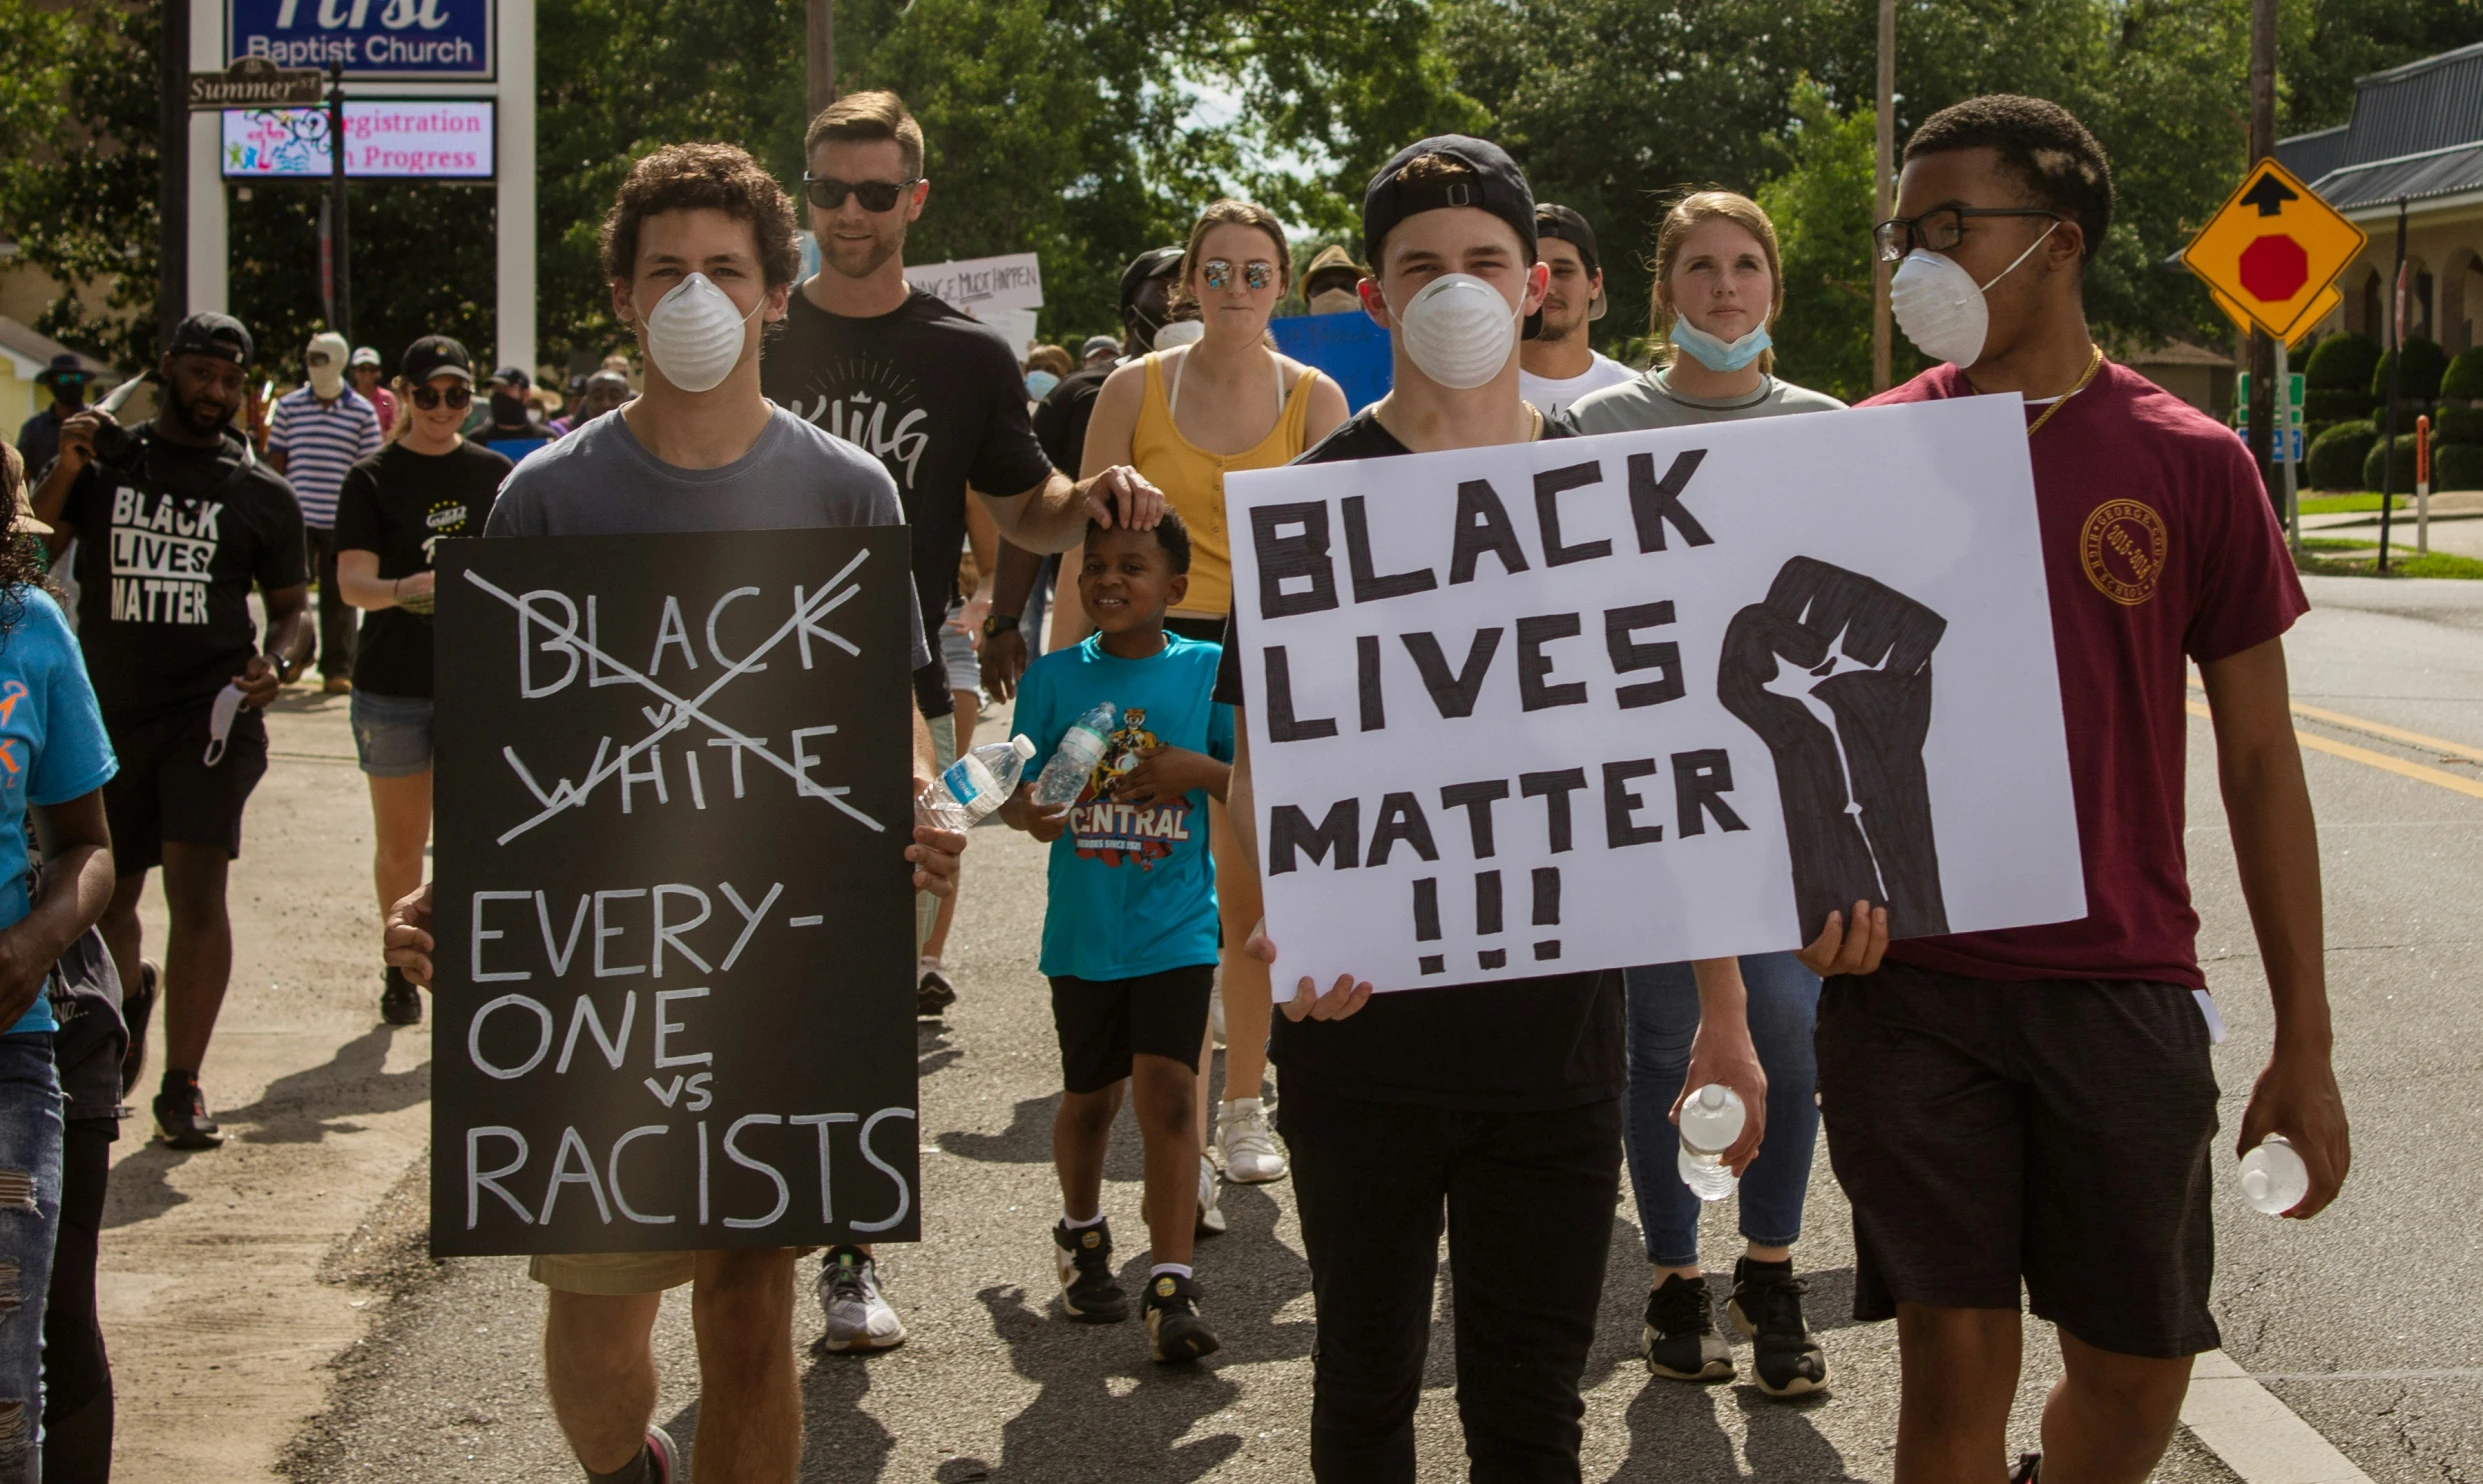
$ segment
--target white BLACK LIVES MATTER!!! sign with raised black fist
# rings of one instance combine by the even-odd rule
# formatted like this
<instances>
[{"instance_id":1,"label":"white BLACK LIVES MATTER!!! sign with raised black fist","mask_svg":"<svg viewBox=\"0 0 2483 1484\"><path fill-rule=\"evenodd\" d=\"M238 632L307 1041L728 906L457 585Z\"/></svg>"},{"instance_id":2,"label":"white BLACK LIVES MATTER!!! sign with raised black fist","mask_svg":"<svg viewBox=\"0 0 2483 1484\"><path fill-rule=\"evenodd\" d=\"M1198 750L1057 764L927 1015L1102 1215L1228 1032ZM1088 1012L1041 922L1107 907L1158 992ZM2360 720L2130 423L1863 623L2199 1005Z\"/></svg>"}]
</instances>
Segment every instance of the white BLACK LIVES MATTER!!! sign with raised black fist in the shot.
<instances>
[{"instance_id":1,"label":"white BLACK LIVES MATTER!!! sign with raised black fist","mask_svg":"<svg viewBox=\"0 0 2483 1484\"><path fill-rule=\"evenodd\" d=\"M1765 953L1855 898L1895 936L2086 913L2016 397L1224 499L1284 983Z\"/></svg>"}]
</instances>

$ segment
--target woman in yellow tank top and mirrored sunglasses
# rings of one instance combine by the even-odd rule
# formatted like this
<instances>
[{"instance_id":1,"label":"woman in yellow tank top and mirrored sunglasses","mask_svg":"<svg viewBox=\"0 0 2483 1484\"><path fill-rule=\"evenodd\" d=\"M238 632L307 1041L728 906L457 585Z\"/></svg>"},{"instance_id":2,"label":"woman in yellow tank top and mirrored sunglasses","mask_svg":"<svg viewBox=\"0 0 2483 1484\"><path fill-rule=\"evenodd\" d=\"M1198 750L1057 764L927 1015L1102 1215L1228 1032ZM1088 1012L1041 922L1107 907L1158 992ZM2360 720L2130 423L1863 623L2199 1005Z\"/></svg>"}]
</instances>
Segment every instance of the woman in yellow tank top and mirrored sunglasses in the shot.
<instances>
[{"instance_id":1,"label":"woman in yellow tank top and mirrored sunglasses","mask_svg":"<svg viewBox=\"0 0 2483 1484\"><path fill-rule=\"evenodd\" d=\"M1269 347L1266 320L1291 280L1284 226L1264 206L1217 201L1189 228L1174 308L1197 305L1202 335L1120 367L1095 395L1085 472L1130 464L1165 491L1189 526L1189 596L1165 628L1224 643L1232 608L1232 543L1224 531L1224 476L1274 469L1328 437L1346 419L1346 392L1331 377ZM1060 558L1063 591L1083 551ZM1075 603L1053 618L1053 648L1093 628ZM1217 861L1217 913L1224 921L1224 1107L1207 1122L1207 1057L1199 1057L1199 1132L1214 1129L1227 1174L1242 1181L1284 1176L1284 1154L1266 1127L1259 1084L1266 1077L1269 975L1242 953L1259 923L1259 874L1237 856L1224 804L1209 799L1209 849ZM1222 1231L1212 1164L1202 1156L1202 1226Z\"/></svg>"}]
</instances>

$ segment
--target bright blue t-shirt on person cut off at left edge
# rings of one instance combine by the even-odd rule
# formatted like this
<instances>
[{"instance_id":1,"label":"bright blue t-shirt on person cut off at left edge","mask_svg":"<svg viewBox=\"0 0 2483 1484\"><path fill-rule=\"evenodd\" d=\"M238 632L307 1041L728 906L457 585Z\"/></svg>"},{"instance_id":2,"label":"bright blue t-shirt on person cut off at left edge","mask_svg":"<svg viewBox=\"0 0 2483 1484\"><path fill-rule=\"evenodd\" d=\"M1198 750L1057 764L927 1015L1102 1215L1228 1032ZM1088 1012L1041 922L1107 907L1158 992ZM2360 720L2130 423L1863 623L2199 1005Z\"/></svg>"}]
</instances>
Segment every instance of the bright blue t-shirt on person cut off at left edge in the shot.
<instances>
[{"instance_id":1,"label":"bright blue t-shirt on person cut off at left edge","mask_svg":"<svg viewBox=\"0 0 2483 1484\"><path fill-rule=\"evenodd\" d=\"M12 598L20 618L0 633L0 928L35 911L25 891L27 807L67 804L119 772L60 603L37 588L17 588ZM50 995L35 995L7 1035L37 1030L60 1030Z\"/></svg>"}]
</instances>

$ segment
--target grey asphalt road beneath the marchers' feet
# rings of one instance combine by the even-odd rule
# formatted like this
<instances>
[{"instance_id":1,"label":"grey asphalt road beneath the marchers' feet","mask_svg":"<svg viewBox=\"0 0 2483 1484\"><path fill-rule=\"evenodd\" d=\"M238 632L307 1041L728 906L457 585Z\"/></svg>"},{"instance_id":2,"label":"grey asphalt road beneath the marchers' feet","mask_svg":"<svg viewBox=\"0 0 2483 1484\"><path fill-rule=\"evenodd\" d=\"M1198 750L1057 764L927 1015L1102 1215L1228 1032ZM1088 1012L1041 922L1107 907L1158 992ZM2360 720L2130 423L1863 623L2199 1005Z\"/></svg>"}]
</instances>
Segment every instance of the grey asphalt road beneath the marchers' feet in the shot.
<instances>
[{"instance_id":1,"label":"grey asphalt road beneath the marchers' feet","mask_svg":"<svg viewBox=\"0 0 2483 1484\"><path fill-rule=\"evenodd\" d=\"M2319 606L2294 633L2297 695L2441 740L2443 749L2304 720L2304 732L2443 774L2483 779L2483 583L2314 581ZM286 717L278 717L281 727ZM283 747L283 742L278 742ZM2463 1285L2483 1276L2483 1072L2468 1052L2476 1012L2466 960L2483 918L2483 799L2307 752L2322 814L2329 973L2339 1070L2356 1114L2344 1201L2317 1223L2217 1206L2217 1315L2227 1350L2371 1479L2483 1479L2483 1318ZM335 809L360 797L335 792ZM305 804L308 807L308 804ZM2232 1040L2217 1050L2225 1119L2240 1117L2267 1055L2269 1017L2232 878L2205 722L2192 725L2190 864L2207 960ZM1040 851L981 831L951 960L963 1000L921 1032L924 1209L929 1238L884 1248L911 1328L896 1352L804 1352L804 1479L1025 1479L1043 1484L1306 1477L1311 1300L1289 1186L1229 1189L1232 1233L1202 1246L1199 1276L1227 1348L1189 1370L1145 1360L1132 1325L1055 1318L1048 1226L1058 1194L1048 1127L1058 1062L1033 945ZM335 881L360 901L360 881ZM367 911L367 908L360 908ZM427 1032L422 1032L427 1035ZM390 1055L420 1060L420 1037ZM318 1119L323 1097L305 1084ZM350 1092L338 1092L350 1102ZM350 1112L340 1109L340 1112ZM238 1149L263 1134L241 1129ZM363 1159L370 1159L365 1154ZM325 1377L325 1407L283 1449L295 1479L576 1479L541 1400L541 1295L514 1258L422 1256L422 1166L335 1246L323 1273L370 1315ZM1137 1149L1122 1124L1107 1214L1137 1268ZM367 1186L367 1171L363 1184ZM1708 1214L1708 1263L1726 1268L1728 1209ZM271 1228L286 1216L271 1214ZM1507 1281L1527 1281L1527 1231L1507 1233ZM1818 1161L1810 1233L1813 1323L1835 1365L1827 1397L1780 1405L1755 1387L1651 1382L1636 1362L1646 1268L1624 1196L1614 1223L1604 1328L1587 1385L1587 1477L1887 1479L1897 1357L1890 1325L1852 1325L1845 1204ZM1142 1271L1142 1268L1140 1268ZM797 1335L819 1330L804 1298ZM688 1305L668 1303L658 1417L688 1442L698 1387ZM1743 1350L1743 1357L1748 1352ZM2048 1343L2029 1335L2014 1442L2034 1447ZM151 1427L151 1400L124 1387L124 1427ZM1420 1415L1423 1474L1462 1477L1445 1313ZM695 1469L695 1462L693 1462ZM2235 1479L2188 1434L2163 1482Z\"/></svg>"}]
</instances>

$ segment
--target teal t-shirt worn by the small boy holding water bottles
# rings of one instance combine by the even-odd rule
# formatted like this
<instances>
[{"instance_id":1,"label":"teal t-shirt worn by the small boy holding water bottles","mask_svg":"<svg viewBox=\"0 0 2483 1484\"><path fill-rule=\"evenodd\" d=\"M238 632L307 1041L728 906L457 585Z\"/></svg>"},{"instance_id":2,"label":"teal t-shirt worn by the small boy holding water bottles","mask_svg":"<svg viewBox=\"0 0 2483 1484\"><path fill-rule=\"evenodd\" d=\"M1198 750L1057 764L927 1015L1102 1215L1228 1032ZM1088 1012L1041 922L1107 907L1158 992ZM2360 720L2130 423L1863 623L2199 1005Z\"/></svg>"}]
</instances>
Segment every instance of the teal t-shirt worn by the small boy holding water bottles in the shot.
<instances>
[{"instance_id":1,"label":"teal t-shirt worn by the small boy holding water bottles","mask_svg":"<svg viewBox=\"0 0 2483 1484\"><path fill-rule=\"evenodd\" d=\"M1102 653L1100 635L1055 650L1018 682L1016 730L1035 744L1025 777L1095 702L1110 700L1112 735L1053 841L1043 973L1125 980L1217 960L1217 869L1207 854L1207 794L1122 804L1112 779L1147 747L1234 754L1234 712L1212 700L1222 650L1165 635L1145 660Z\"/></svg>"}]
</instances>

